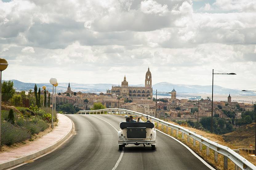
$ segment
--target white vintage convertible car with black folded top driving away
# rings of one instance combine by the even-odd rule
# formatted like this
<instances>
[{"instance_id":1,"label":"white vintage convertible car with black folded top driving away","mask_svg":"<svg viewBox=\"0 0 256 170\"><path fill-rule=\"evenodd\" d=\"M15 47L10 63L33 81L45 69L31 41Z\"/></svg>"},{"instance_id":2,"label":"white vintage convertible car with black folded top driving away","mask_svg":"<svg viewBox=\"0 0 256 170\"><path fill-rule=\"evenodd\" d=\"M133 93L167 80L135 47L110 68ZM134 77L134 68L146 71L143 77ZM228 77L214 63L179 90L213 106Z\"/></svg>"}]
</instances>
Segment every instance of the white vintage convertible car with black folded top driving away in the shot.
<instances>
[{"instance_id":1,"label":"white vintage convertible car with black folded top driving away","mask_svg":"<svg viewBox=\"0 0 256 170\"><path fill-rule=\"evenodd\" d=\"M152 122L121 122L118 131L118 145L121 151L125 145L151 145L155 150L156 130Z\"/></svg>"}]
</instances>

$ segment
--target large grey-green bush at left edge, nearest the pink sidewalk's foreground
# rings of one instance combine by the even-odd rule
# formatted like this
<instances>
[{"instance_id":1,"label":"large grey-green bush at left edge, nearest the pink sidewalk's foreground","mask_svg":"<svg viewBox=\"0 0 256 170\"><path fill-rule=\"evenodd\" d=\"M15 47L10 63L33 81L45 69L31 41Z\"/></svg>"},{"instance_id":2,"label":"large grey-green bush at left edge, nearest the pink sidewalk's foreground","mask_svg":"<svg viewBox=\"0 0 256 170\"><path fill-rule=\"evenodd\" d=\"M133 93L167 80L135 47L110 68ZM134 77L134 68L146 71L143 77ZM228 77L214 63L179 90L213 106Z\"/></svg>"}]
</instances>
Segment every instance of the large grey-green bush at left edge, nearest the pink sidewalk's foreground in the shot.
<instances>
[{"instance_id":1,"label":"large grey-green bush at left edge, nearest the pink sidewalk's foreground","mask_svg":"<svg viewBox=\"0 0 256 170\"><path fill-rule=\"evenodd\" d=\"M25 128L14 126L7 121L2 122L1 128L2 145L12 145L16 142L25 141L31 137L30 131Z\"/></svg>"}]
</instances>

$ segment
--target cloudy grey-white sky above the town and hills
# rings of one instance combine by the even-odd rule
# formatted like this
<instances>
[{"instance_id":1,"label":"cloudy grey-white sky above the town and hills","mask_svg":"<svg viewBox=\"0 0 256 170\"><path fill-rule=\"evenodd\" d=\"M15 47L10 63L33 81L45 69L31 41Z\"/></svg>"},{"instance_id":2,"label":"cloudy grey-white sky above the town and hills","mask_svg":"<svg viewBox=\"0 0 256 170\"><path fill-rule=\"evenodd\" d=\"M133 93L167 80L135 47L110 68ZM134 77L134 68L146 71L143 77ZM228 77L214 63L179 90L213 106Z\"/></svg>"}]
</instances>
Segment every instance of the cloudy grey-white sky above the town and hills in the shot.
<instances>
[{"instance_id":1,"label":"cloudy grey-white sky above the town and hills","mask_svg":"<svg viewBox=\"0 0 256 170\"><path fill-rule=\"evenodd\" d=\"M256 88L256 1L0 0L2 79ZM217 71L218 70L218 71Z\"/></svg>"}]
</instances>

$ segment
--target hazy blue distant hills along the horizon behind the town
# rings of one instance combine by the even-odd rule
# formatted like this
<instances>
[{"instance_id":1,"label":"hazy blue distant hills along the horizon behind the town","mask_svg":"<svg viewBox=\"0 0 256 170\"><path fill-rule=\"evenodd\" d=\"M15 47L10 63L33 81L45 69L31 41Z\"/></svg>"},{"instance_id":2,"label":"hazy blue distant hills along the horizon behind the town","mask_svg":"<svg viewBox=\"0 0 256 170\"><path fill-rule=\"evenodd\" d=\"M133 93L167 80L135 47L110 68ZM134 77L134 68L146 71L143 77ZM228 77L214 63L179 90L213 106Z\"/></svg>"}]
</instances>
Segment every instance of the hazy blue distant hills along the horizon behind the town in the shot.
<instances>
[{"instance_id":1,"label":"hazy blue distant hills along the horizon behind the town","mask_svg":"<svg viewBox=\"0 0 256 170\"><path fill-rule=\"evenodd\" d=\"M34 89L35 83L24 83L18 80L11 80L14 82L14 87L16 91L22 90L29 90ZM82 84L82 83L70 83L72 91L81 91L81 92L90 92L90 93L100 93L106 92L106 89L111 89L112 85L118 86L118 84ZM42 86L46 86L48 91L52 91L52 85L50 83L37 83L38 88ZM144 84L137 84L137 85L130 85L130 86L139 86L143 87ZM59 83L57 90L59 92L64 92L67 90L68 83ZM169 92L175 88L177 93L195 93L195 94L205 94L211 93L212 86L201 86L201 85L188 85L188 84L173 84L168 82L157 83L153 85L153 93L157 89L158 92ZM214 94L229 94L232 93L233 95L256 95L253 92L242 93L239 90L228 89L224 87L220 87L214 85Z\"/></svg>"}]
</instances>

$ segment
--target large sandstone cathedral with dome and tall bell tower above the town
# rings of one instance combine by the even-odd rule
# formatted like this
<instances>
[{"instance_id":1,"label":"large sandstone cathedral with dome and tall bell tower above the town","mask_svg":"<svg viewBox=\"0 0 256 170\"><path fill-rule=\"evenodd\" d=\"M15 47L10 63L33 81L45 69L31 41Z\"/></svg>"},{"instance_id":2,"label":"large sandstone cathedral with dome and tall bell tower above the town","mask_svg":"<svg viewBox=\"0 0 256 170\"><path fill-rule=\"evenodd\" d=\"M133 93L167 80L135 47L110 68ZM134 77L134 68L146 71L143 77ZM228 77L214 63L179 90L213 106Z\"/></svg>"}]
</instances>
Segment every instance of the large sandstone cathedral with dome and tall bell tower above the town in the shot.
<instances>
[{"instance_id":1,"label":"large sandstone cathedral with dome and tall bell tower above the town","mask_svg":"<svg viewBox=\"0 0 256 170\"><path fill-rule=\"evenodd\" d=\"M128 82L126 81L126 76L124 76L124 80L122 81L121 86L112 86L111 90L107 90L107 93L116 94L122 97L132 97L132 98L150 98L152 99L153 89L152 89L152 77L151 72L146 72L145 78L145 87L135 87L128 86Z\"/></svg>"}]
</instances>

